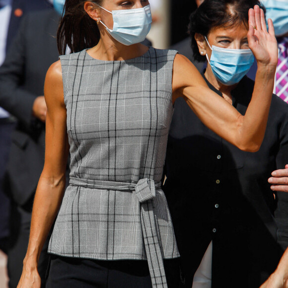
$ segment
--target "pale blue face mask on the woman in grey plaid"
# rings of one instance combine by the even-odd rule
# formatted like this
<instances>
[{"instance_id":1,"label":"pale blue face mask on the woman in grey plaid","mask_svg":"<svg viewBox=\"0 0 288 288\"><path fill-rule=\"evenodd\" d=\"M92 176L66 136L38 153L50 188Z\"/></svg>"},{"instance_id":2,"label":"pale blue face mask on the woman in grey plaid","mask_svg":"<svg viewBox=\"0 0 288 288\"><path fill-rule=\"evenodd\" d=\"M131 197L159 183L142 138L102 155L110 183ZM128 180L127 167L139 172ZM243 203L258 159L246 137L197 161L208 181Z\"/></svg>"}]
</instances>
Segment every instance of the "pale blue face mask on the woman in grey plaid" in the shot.
<instances>
[{"instance_id":1,"label":"pale blue face mask on the woman in grey plaid","mask_svg":"<svg viewBox=\"0 0 288 288\"><path fill-rule=\"evenodd\" d=\"M101 6L99 6L101 7ZM102 21L108 33L124 45L132 45L144 41L151 28L152 17L150 5L138 9L113 10L113 29L109 29Z\"/></svg>"}]
</instances>

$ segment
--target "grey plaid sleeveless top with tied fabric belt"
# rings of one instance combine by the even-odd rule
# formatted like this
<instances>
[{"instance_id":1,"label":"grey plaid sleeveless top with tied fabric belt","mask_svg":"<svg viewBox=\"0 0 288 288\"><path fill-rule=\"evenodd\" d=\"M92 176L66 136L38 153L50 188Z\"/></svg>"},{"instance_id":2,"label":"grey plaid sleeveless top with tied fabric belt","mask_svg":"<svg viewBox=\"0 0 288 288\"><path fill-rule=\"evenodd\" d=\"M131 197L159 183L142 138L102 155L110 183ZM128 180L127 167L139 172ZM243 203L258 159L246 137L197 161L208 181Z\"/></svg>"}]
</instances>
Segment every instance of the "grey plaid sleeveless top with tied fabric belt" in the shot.
<instances>
[{"instance_id":1,"label":"grey plaid sleeveless top with tied fabric belt","mask_svg":"<svg viewBox=\"0 0 288 288\"><path fill-rule=\"evenodd\" d=\"M162 259L179 257L159 185L176 53L150 47L126 61L86 51L61 56L71 178L50 253L147 259L153 287L166 287Z\"/></svg>"}]
</instances>

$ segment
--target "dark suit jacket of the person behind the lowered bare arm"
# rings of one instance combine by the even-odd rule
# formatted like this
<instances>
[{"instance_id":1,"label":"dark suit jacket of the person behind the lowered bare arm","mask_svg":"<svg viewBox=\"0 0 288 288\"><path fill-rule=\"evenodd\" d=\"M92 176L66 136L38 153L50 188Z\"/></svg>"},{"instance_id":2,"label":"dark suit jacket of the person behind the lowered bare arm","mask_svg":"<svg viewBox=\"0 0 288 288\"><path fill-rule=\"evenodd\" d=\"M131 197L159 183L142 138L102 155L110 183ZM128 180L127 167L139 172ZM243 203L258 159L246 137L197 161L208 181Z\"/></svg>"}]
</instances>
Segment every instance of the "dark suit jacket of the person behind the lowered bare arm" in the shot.
<instances>
[{"instance_id":1,"label":"dark suit jacket of the person behind the lowered bare arm","mask_svg":"<svg viewBox=\"0 0 288 288\"><path fill-rule=\"evenodd\" d=\"M23 18L0 67L0 106L18 120L5 177L5 187L19 205L35 192L44 165L45 124L32 117L37 96L44 95L45 75L58 60L54 10Z\"/></svg>"}]
</instances>

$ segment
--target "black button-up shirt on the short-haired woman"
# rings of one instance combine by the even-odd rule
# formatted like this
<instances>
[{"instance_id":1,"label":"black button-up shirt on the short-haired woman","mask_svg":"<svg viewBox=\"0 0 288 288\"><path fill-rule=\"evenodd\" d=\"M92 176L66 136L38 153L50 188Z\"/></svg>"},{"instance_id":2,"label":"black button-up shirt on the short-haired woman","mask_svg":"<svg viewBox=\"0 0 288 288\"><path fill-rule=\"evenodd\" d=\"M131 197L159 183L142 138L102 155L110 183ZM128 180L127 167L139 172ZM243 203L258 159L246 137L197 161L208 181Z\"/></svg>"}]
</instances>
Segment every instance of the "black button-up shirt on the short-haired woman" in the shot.
<instances>
[{"instance_id":1,"label":"black button-up shirt on the short-haired woman","mask_svg":"<svg viewBox=\"0 0 288 288\"><path fill-rule=\"evenodd\" d=\"M253 86L244 77L232 91L233 106L242 115ZM274 217L277 201L267 179L288 163L288 105L273 96L265 138L255 153L243 152L209 130L184 99L177 99L174 108L163 190L186 287L191 288L213 240L212 287L258 288L282 254ZM282 210L283 217L287 211Z\"/></svg>"}]
</instances>

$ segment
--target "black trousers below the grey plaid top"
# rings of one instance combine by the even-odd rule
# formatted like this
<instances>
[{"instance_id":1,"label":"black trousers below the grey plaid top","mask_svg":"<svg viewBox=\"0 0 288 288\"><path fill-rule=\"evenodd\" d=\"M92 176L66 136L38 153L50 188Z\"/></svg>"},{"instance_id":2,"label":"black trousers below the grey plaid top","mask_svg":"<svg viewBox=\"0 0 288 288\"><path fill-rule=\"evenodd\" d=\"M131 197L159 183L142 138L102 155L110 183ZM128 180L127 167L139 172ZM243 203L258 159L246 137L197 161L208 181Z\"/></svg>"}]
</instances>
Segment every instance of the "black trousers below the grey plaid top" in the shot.
<instances>
[{"instance_id":1,"label":"black trousers below the grey plaid top","mask_svg":"<svg viewBox=\"0 0 288 288\"><path fill-rule=\"evenodd\" d=\"M164 260L169 288L180 288L179 259ZM101 261L51 255L46 288L152 288L147 261Z\"/></svg>"}]
</instances>

